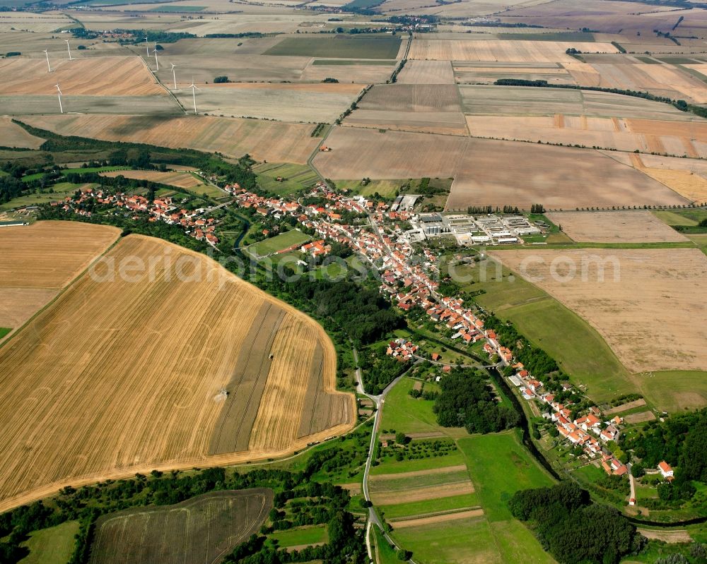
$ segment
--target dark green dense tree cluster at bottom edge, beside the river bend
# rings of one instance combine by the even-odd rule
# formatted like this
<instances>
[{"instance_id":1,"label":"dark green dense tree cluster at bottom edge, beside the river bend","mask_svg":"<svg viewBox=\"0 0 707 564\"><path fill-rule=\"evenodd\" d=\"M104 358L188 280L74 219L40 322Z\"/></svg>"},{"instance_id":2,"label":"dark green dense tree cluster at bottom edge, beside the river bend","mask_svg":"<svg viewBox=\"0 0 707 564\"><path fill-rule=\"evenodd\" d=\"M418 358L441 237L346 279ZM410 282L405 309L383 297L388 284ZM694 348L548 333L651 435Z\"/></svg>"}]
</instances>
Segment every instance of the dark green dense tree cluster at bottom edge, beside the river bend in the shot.
<instances>
[{"instance_id":1,"label":"dark green dense tree cluster at bottom edge, beside the river bend","mask_svg":"<svg viewBox=\"0 0 707 564\"><path fill-rule=\"evenodd\" d=\"M530 523L543 548L562 564L618 563L645 544L616 509L591 503L588 491L571 481L518 491L508 505L514 517Z\"/></svg>"}]
</instances>

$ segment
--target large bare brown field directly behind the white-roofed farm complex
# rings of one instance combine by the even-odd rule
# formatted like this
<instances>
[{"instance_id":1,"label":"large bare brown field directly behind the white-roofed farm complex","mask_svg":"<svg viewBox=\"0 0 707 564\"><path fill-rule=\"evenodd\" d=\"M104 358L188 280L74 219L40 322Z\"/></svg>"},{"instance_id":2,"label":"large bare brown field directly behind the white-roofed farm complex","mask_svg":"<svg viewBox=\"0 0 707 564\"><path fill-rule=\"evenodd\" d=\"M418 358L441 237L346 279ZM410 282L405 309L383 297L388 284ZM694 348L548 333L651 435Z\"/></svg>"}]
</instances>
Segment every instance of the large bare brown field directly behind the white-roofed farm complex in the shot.
<instances>
[{"instance_id":1,"label":"large bare brown field directly behind the white-roofed farm complex","mask_svg":"<svg viewBox=\"0 0 707 564\"><path fill-rule=\"evenodd\" d=\"M549 210L575 210L684 205L688 200L595 150L469 140L447 210L466 210L469 205L518 205L529 210L537 202Z\"/></svg>"}]
</instances>

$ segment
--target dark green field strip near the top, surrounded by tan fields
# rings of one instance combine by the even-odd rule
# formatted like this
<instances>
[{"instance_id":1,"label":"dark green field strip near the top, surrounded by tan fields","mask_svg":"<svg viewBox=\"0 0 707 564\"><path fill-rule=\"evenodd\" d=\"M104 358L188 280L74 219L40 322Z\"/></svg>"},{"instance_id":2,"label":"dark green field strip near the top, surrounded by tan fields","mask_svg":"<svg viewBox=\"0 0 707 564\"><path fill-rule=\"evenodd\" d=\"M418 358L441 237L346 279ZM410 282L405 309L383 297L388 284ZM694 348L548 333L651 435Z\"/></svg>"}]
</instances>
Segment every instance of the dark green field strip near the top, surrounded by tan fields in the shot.
<instances>
[{"instance_id":1,"label":"dark green field strip near the top, surrounded by tan fields","mask_svg":"<svg viewBox=\"0 0 707 564\"><path fill-rule=\"evenodd\" d=\"M321 56L332 59L395 59L400 37L358 37L355 35L287 37L270 47L265 55Z\"/></svg>"}]
</instances>

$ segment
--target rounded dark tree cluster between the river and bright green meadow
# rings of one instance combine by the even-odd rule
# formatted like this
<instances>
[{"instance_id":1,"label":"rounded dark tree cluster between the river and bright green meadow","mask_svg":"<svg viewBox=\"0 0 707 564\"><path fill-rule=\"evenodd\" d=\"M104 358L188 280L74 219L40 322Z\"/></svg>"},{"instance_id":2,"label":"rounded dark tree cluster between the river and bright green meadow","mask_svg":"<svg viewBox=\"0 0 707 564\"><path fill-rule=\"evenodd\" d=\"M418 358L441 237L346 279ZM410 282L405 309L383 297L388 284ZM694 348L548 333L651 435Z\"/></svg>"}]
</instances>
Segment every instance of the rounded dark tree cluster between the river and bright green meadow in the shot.
<instances>
[{"instance_id":1,"label":"rounded dark tree cluster between the river and bright green meadow","mask_svg":"<svg viewBox=\"0 0 707 564\"><path fill-rule=\"evenodd\" d=\"M520 416L499 404L488 377L479 371L454 368L440 380L433 412L443 427L465 427L469 433L493 433L515 427Z\"/></svg>"}]
</instances>

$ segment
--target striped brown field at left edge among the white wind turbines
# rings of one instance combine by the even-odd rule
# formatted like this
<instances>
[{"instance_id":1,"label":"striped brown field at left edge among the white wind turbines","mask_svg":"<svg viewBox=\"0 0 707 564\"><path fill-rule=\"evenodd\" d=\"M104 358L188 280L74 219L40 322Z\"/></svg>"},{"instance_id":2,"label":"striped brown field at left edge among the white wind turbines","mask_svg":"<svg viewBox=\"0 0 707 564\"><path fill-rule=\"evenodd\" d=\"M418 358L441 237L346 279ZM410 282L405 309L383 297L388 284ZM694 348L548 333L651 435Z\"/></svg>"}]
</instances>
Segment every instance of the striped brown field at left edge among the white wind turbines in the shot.
<instances>
[{"instance_id":1,"label":"striped brown field at left edge among the white wind turbines","mask_svg":"<svg viewBox=\"0 0 707 564\"><path fill-rule=\"evenodd\" d=\"M56 95L59 84L67 96L167 95L136 56L59 59L52 61L52 73L45 59L2 59L0 76L0 94Z\"/></svg>"}]
</instances>

